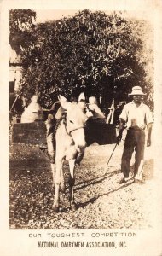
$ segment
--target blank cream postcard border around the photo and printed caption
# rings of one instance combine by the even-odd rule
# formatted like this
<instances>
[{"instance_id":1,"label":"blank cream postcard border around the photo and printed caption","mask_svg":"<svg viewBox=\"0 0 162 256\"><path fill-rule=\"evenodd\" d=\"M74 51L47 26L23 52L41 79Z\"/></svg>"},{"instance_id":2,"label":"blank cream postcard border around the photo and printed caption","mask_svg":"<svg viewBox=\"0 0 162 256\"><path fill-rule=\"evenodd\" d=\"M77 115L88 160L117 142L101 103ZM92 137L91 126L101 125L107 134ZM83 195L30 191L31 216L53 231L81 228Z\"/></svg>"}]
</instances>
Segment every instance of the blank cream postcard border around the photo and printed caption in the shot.
<instances>
[{"instance_id":1,"label":"blank cream postcard border around the photo and printed caption","mask_svg":"<svg viewBox=\"0 0 162 256\"><path fill-rule=\"evenodd\" d=\"M1 2L1 24L0 24L0 49L1 49L1 66L0 66L0 118L1 118L1 133L0 133L0 204L1 204L1 218L0 218L0 254L12 255L12 256L23 256L23 255L145 255L145 256L158 256L162 253L161 247L161 143L162 143L162 119L161 119L161 96L162 96L162 84L161 84L161 68L162 67L162 56L161 56L161 42L162 42L162 31L161 31L161 15L162 6L161 1L147 1L147 0L136 0L136 1L122 1L122 0L60 0L60 1L48 1L48 0L31 0L31 1L2 1ZM154 83L155 83L155 171L157 177L157 183L155 188L154 199L157 203L155 204L155 220L156 228L152 231L148 230L135 230L138 232L138 239L130 242L131 246L128 249L124 249L123 253L120 251L113 252L112 250L103 249L61 249L49 250L49 249L38 249L36 247L35 239L29 239L29 233L41 233L45 236L48 230L9 230L8 228L8 170L9 170L9 146L8 146L8 106L9 106L9 49L8 49L8 38L9 38L9 9L101 9L101 10L127 10L136 12L136 15L143 15L145 19L153 20L154 22ZM150 202L152 207L152 202ZM51 230L49 230L51 232ZM63 232L64 230L58 230ZM65 230L66 231L66 230ZM77 232L78 230L74 230ZM96 230L95 230L96 231ZM117 231L117 230L109 230ZM118 230L121 232L121 230ZM124 231L124 230L122 230ZM129 230L130 231L130 230ZM89 237L91 230L84 230L86 233L86 239Z\"/></svg>"}]
</instances>

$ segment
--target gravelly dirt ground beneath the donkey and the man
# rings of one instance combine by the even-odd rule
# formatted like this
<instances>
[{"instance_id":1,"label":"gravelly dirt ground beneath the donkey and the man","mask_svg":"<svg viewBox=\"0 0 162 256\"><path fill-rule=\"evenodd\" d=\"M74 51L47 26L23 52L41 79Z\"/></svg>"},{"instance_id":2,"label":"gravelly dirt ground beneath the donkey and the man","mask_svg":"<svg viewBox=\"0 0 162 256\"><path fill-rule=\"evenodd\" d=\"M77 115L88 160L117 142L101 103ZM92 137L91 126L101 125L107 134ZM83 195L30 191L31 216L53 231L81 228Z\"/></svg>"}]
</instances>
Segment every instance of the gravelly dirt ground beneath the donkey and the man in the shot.
<instances>
[{"instance_id":1,"label":"gravelly dirt ground beneath the donkey and the man","mask_svg":"<svg viewBox=\"0 0 162 256\"><path fill-rule=\"evenodd\" d=\"M153 226L153 148L146 148L144 184L132 180L119 185L123 144L86 148L76 168L75 199L78 209L69 209L68 185L60 195L59 213L53 212L54 189L49 160L37 146L11 144L9 152L9 227L18 229L80 228L119 229ZM133 159L131 162L133 165ZM64 165L65 178L68 166Z\"/></svg>"}]
</instances>

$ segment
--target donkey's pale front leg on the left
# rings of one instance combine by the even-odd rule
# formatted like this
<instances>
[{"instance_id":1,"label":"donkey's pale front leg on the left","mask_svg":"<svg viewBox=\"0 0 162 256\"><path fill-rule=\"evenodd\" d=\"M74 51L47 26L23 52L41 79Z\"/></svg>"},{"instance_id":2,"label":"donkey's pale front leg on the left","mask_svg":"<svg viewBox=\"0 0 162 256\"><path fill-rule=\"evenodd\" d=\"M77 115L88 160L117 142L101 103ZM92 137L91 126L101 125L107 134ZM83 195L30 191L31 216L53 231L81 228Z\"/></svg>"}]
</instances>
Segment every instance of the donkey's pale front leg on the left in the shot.
<instances>
[{"instance_id":1,"label":"donkey's pale front leg on the left","mask_svg":"<svg viewBox=\"0 0 162 256\"><path fill-rule=\"evenodd\" d=\"M61 184L61 168L62 160L56 160L55 165L55 196L54 196L54 212L59 212L59 190Z\"/></svg>"}]
</instances>

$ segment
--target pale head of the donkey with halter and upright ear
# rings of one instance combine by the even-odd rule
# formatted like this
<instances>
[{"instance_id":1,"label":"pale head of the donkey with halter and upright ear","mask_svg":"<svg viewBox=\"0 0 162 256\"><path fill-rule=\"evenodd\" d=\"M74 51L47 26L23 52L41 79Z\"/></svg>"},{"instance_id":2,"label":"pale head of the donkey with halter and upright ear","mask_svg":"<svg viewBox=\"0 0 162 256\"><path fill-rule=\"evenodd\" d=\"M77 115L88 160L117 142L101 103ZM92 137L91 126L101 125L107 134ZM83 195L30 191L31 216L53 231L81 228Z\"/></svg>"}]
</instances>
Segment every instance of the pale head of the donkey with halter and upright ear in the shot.
<instances>
[{"instance_id":1,"label":"pale head of the donkey with halter and upright ear","mask_svg":"<svg viewBox=\"0 0 162 256\"><path fill-rule=\"evenodd\" d=\"M63 96L59 96L62 108L66 109L66 130L67 134L72 137L78 152L82 151L85 146L84 127L87 116L78 103L67 102Z\"/></svg>"}]
</instances>

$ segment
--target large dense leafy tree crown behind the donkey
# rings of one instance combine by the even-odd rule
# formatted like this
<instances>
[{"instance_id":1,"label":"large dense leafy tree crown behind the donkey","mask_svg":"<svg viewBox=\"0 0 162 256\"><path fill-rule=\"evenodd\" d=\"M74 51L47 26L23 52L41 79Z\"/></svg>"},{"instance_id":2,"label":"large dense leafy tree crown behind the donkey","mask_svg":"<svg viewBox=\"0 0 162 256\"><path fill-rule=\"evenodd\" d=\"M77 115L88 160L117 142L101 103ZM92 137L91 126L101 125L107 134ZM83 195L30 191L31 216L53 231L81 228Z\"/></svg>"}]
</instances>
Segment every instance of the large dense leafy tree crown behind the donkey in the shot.
<instances>
[{"instance_id":1,"label":"large dense leafy tree crown behind the donkey","mask_svg":"<svg viewBox=\"0 0 162 256\"><path fill-rule=\"evenodd\" d=\"M139 32L140 33L140 32ZM102 97L104 102L127 98L132 86L145 89L142 36L135 22L122 15L90 10L32 28L32 45L21 52L22 93L36 93L49 107L55 91L64 96Z\"/></svg>"}]
</instances>

